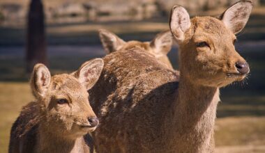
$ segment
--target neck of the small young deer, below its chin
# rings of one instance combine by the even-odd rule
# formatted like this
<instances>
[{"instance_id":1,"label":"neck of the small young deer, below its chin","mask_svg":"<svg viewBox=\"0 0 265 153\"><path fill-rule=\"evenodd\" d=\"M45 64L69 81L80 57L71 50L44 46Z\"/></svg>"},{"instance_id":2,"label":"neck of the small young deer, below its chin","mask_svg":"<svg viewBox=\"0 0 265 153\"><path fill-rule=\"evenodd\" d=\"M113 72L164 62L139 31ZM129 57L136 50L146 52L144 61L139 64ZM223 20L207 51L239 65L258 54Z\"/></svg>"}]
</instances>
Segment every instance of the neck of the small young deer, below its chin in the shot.
<instances>
[{"instance_id":1,"label":"neck of the small young deer, below its chin","mask_svg":"<svg viewBox=\"0 0 265 153\"><path fill-rule=\"evenodd\" d=\"M48 127L40 123L38 128L36 152L85 152L83 137L70 139L58 136Z\"/></svg>"}]
</instances>

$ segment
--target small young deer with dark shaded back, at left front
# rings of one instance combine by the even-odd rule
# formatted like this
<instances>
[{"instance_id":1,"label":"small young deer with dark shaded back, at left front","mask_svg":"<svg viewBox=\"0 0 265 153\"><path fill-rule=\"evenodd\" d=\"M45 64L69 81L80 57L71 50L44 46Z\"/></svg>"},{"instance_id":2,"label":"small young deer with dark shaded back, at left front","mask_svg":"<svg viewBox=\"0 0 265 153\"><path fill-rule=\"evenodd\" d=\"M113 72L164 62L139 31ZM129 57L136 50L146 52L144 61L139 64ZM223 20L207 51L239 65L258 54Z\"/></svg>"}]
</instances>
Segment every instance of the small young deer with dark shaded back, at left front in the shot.
<instances>
[{"instance_id":1,"label":"small young deer with dark shaded back, at left front","mask_svg":"<svg viewBox=\"0 0 265 153\"><path fill-rule=\"evenodd\" d=\"M89 152L87 134L98 126L88 92L103 69L100 58L84 63L73 74L51 77L43 64L31 74L36 101L22 109L10 134L9 152Z\"/></svg>"}]
</instances>

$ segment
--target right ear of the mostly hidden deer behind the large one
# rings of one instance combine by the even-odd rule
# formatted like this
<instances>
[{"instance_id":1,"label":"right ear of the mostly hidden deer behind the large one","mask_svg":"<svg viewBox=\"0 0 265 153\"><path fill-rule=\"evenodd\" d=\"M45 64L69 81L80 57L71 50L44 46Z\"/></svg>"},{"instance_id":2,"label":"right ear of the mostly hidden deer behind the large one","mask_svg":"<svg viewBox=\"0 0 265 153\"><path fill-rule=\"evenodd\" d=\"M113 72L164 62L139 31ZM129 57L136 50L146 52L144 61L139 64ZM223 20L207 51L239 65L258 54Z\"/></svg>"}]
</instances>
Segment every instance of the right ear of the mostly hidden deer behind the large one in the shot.
<instances>
[{"instance_id":1,"label":"right ear of the mostly hidden deer behind the large one","mask_svg":"<svg viewBox=\"0 0 265 153\"><path fill-rule=\"evenodd\" d=\"M172 33L170 31L164 31L156 35L156 38L150 42L150 46L156 51L156 54L167 55L172 48L172 39Z\"/></svg>"}]
</instances>

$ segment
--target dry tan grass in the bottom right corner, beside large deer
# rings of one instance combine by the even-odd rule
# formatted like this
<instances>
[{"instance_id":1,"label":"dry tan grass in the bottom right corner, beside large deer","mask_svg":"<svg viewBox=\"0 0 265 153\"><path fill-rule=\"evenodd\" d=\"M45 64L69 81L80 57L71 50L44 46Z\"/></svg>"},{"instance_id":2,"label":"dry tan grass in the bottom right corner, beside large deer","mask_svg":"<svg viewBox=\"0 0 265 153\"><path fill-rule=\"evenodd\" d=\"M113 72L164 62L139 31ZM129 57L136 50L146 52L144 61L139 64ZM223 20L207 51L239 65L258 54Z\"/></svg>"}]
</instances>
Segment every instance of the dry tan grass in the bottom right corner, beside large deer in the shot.
<instances>
[{"instance_id":1,"label":"dry tan grass in the bottom right corner, beside large deer","mask_svg":"<svg viewBox=\"0 0 265 153\"><path fill-rule=\"evenodd\" d=\"M265 117L218 118L215 152L265 152Z\"/></svg>"}]
</instances>

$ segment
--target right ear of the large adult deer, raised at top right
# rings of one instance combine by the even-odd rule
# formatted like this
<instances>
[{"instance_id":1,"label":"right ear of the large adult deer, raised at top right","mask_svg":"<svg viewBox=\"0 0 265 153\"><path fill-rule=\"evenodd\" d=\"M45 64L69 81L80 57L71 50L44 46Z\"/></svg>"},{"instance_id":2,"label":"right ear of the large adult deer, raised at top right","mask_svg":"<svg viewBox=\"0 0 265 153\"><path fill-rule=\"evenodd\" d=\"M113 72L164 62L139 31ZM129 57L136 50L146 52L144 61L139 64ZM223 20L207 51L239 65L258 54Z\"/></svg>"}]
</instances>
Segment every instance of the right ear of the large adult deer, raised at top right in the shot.
<instances>
[{"instance_id":1,"label":"right ear of the large adult deer, raised at top right","mask_svg":"<svg viewBox=\"0 0 265 153\"><path fill-rule=\"evenodd\" d=\"M252 10L252 1L239 1L225 10L220 19L234 34L239 33L248 22Z\"/></svg>"}]
</instances>

